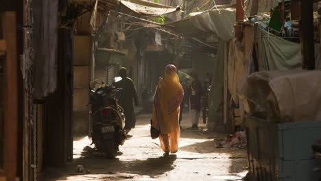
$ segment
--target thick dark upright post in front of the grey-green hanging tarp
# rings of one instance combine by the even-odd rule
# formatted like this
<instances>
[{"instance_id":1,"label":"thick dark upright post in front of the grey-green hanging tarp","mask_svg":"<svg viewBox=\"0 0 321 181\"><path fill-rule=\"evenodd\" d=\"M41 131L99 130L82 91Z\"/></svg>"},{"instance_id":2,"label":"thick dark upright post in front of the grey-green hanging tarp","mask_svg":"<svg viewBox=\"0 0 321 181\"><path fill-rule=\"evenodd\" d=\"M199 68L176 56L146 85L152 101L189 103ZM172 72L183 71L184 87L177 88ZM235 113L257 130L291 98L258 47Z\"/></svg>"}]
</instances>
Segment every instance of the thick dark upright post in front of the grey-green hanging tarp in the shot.
<instances>
[{"instance_id":1,"label":"thick dark upright post in front of the grey-green hanging tarp","mask_svg":"<svg viewBox=\"0 0 321 181\"><path fill-rule=\"evenodd\" d=\"M314 60L313 1L301 0L300 24L302 69L313 70L316 67L316 63Z\"/></svg>"}]
</instances>

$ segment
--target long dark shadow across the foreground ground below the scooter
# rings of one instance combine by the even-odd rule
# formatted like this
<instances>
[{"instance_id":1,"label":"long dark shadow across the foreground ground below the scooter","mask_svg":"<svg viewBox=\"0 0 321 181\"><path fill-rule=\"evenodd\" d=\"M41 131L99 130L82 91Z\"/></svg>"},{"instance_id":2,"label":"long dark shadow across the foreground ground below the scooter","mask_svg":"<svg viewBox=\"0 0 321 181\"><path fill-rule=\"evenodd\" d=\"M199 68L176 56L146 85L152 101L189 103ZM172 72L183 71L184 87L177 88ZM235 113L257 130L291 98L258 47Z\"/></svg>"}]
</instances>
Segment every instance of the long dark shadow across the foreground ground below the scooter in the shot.
<instances>
[{"instance_id":1,"label":"long dark shadow across the foreground ground below the scooter","mask_svg":"<svg viewBox=\"0 0 321 181\"><path fill-rule=\"evenodd\" d=\"M173 163L176 158L176 155L170 155L167 157L147 158L146 160L123 161L119 160L119 158L110 160L104 157L99 158L99 156L85 156L84 158L74 159L74 164L67 165L64 170L50 169L47 171L48 175L46 178L51 179L45 180L53 180L53 178L68 180L66 176L83 175L84 173L77 173L75 171L76 165L84 165L85 173L89 175L106 174L110 176L110 178L116 179L113 175L120 173L121 176L117 176L117 178L133 178L134 175L154 178L175 169L176 166ZM108 163L108 167L106 167L106 163Z\"/></svg>"}]
</instances>

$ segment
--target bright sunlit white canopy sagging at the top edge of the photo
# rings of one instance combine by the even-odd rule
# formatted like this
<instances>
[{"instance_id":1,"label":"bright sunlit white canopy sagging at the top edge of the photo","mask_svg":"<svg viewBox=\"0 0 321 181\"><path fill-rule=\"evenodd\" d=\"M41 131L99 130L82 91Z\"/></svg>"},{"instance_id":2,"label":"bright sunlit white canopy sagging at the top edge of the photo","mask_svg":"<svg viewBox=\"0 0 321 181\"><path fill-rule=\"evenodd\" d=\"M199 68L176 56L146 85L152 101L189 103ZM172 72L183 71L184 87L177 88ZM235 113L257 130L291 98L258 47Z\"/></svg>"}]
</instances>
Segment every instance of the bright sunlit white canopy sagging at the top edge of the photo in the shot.
<instances>
[{"instance_id":1,"label":"bright sunlit white canopy sagging at the top edge of the photo","mask_svg":"<svg viewBox=\"0 0 321 181\"><path fill-rule=\"evenodd\" d=\"M120 1L120 3L136 13L148 16L160 16L163 14L176 12L177 10L180 10L180 8L174 8L171 6L143 0L122 0Z\"/></svg>"}]
</instances>

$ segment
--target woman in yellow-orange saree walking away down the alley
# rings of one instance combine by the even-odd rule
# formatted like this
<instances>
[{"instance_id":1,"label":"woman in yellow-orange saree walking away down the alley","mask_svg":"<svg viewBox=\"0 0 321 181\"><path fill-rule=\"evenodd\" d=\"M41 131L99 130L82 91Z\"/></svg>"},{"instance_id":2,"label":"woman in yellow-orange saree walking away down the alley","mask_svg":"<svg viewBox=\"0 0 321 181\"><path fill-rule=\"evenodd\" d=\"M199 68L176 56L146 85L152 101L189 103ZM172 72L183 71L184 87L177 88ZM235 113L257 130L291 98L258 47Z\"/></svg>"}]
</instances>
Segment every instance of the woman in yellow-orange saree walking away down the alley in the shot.
<instances>
[{"instance_id":1,"label":"woman in yellow-orange saree walking away down the alley","mask_svg":"<svg viewBox=\"0 0 321 181\"><path fill-rule=\"evenodd\" d=\"M160 77L154 96L152 126L160 130L160 147L168 156L178 151L180 138L180 104L184 91L176 74L176 67L169 64L165 67L165 77Z\"/></svg>"}]
</instances>

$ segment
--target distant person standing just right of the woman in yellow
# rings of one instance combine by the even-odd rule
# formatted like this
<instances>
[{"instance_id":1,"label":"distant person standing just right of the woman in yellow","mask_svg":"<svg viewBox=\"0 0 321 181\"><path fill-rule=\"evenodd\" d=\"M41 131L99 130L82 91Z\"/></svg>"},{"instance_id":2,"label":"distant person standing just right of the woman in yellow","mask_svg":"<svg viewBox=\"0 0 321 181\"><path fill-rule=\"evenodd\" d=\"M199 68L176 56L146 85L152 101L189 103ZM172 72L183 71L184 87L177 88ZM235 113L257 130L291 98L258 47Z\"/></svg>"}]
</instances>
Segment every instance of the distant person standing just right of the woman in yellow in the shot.
<instances>
[{"instance_id":1,"label":"distant person standing just right of the woman in yellow","mask_svg":"<svg viewBox=\"0 0 321 181\"><path fill-rule=\"evenodd\" d=\"M189 114L192 126L188 130L198 130L198 119L200 118L201 98L203 95L202 84L198 80L198 73L191 73L193 82L188 90Z\"/></svg>"}]
</instances>

